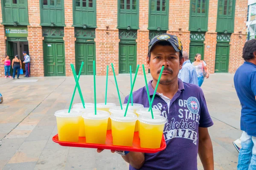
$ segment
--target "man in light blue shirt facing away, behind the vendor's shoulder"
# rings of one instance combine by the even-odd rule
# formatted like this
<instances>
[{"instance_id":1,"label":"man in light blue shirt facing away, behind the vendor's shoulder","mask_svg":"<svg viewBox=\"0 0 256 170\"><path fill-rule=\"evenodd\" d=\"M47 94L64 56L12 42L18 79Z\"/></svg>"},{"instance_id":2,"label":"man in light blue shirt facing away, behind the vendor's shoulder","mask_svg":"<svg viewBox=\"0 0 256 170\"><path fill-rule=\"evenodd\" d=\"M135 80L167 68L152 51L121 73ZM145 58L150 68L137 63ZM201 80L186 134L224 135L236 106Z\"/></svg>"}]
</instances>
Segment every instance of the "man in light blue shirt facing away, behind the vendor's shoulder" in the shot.
<instances>
[{"instance_id":1,"label":"man in light blue shirt facing away, behind the vendor's shoulder","mask_svg":"<svg viewBox=\"0 0 256 170\"><path fill-rule=\"evenodd\" d=\"M194 66L189 60L188 53L186 51L183 51L182 55L184 58L184 62L178 74L178 78L181 79L183 82L198 85L197 73Z\"/></svg>"}]
</instances>

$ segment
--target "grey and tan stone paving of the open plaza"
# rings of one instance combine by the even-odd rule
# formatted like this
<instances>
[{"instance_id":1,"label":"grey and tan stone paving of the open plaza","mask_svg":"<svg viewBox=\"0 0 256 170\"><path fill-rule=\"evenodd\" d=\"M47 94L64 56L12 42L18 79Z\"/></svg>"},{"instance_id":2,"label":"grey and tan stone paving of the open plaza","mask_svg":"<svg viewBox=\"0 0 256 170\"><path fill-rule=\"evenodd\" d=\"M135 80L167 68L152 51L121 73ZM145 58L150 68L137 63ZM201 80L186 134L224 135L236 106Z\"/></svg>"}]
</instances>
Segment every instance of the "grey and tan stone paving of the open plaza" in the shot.
<instances>
[{"instance_id":1,"label":"grey and tan stone paving of the open plaza","mask_svg":"<svg viewBox=\"0 0 256 170\"><path fill-rule=\"evenodd\" d=\"M148 80L151 79L148 75ZM127 82L128 81L128 82ZM130 91L128 75L117 76L124 100ZM85 102L93 102L93 76L81 76ZM105 77L96 77L97 102L105 99ZM134 89L144 86L138 76ZM52 142L57 134L54 112L67 109L74 89L73 77L0 78L0 170L127 170L121 156L104 150L62 147ZM209 128L215 170L236 170L238 152L232 142L241 135L240 103L233 74L211 74L202 85L215 123ZM73 103L80 102L76 93ZM119 105L114 78L108 81L108 102ZM198 170L203 170L198 159Z\"/></svg>"}]
</instances>

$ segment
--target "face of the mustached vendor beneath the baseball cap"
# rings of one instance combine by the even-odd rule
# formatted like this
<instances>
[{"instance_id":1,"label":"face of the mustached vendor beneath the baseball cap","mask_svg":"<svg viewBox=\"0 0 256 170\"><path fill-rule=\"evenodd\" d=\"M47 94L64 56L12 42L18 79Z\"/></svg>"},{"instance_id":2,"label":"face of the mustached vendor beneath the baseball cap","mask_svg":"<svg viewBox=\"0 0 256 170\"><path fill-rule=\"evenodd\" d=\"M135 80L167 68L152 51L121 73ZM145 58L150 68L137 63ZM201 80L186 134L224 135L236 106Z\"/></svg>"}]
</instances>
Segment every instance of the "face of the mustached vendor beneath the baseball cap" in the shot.
<instances>
[{"instance_id":1,"label":"face of the mustached vendor beneath the baseball cap","mask_svg":"<svg viewBox=\"0 0 256 170\"><path fill-rule=\"evenodd\" d=\"M171 45L155 45L151 50L151 58L147 58L148 69L154 80L158 80L162 66L164 66L160 84L169 85L177 79L184 59L180 60L180 53Z\"/></svg>"}]
</instances>

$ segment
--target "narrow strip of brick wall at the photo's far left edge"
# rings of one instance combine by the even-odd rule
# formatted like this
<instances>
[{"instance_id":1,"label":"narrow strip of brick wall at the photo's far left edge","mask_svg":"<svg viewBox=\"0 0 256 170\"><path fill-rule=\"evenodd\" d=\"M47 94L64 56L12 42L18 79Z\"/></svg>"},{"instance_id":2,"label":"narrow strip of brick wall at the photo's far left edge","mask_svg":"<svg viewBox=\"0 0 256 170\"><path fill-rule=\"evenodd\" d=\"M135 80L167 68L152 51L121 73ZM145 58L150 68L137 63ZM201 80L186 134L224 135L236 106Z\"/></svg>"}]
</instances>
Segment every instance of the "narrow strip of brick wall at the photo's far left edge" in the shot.
<instances>
[{"instance_id":1,"label":"narrow strip of brick wall at the photo's far left edge","mask_svg":"<svg viewBox=\"0 0 256 170\"><path fill-rule=\"evenodd\" d=\"M1 6L1 2L0 1L0 6ZM6 40L5 40L5 30L4 30L4 26L1 24L3 22L2 19L2 8L0 8L0 60L5 58L6 55ZM0 63L0 77L4 77L4 65L1 62Z\"/></svg>"}]
</instances>

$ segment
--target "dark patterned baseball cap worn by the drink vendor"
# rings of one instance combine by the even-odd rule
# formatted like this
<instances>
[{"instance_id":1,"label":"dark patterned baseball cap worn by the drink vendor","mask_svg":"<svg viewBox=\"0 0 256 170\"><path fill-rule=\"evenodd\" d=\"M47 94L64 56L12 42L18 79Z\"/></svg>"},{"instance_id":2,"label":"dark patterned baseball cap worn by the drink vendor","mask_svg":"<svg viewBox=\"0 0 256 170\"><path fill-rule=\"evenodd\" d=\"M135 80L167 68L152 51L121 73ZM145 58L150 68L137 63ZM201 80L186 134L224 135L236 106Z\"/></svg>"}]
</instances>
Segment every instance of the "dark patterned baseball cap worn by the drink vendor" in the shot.
<instances>
[{"instance_id":1,"label":"dark patterned baseball cap worn by the drink vendor","mask_svg":"<svg viewBox=\"0 0 256 170\"><path fill-rule=\"evenodd\" d=\"M175 49L175 51L180 52L182 56L182 50L183 50L182 43L179 37L171 34L160 34L152 38L152 40L149 42L149 45L148 45L148 54L150 54L153 46L160 41L169 42L172 45L172 47Z\"/></svg>"}]
</instances>

